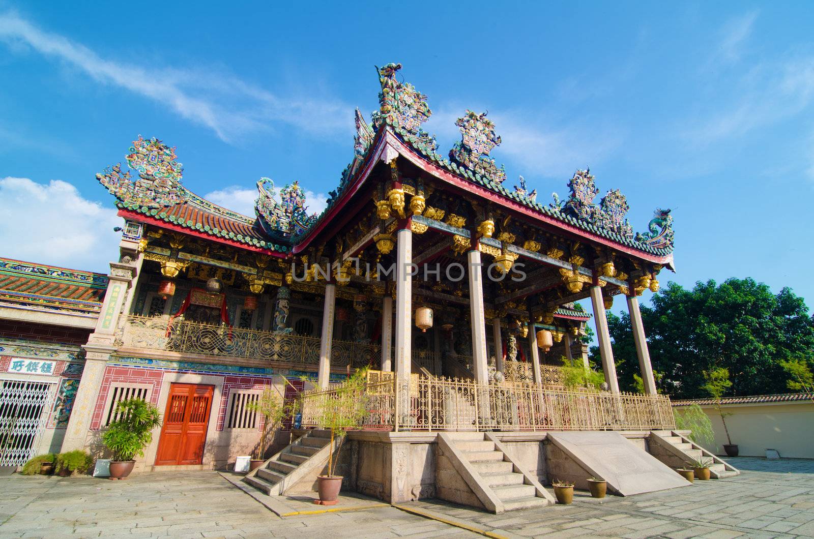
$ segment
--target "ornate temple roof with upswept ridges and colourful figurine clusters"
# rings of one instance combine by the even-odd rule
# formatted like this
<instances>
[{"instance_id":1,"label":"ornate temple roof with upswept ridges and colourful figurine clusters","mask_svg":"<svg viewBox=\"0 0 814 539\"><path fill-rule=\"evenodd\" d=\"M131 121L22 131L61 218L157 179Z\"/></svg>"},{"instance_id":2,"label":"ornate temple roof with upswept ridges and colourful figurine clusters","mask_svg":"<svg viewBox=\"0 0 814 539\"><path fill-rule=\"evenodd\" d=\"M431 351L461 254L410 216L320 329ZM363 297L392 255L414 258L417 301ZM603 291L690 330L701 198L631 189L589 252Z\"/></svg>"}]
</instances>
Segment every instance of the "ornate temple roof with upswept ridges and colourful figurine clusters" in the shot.
<instances>
[{"instance_id":1,"label":"ornate temple roof with upswept ridges and colourful figurine clusters","mask_svg":"<svg viewBox=\"0 0 814 539\"><path fill-rule=\"evenodd\" d=\"M456 125L462 139L447 157L441 156L436 151L435 137L422 129L432 114L427 96L397 80L400 68L400 64L377 68L381 85L379 110L372 114L369 124L357 109L353 160L341 174L339 186L330 191L328 206L320 216L307 213L304 193L297 182L283 187L278 195L268 178L257 182L255 218L212 204L182 186L182 164L177 162L175 148L155 138L139 137L125 156L130 169L138 175L135 181L129 171L122 172L120 164L97 174L98 181L116 196L116 205L125 217L143 216L159 226L188 229L193 234L280 255L295 246L300 250L301 243L310 241L313 230L335 216L336 207L352 195L349 191L356 191L348 190L348 186L364 182L370 173L371 167L363 164L370 162L374 148L382 150L383 138L391 134L417 159L435 167L433 170L452 174L456 182L484 187L487 191L481 193L491 193L507 204L520 204L541 221L561 223L558 226L562 228L658 257L667 264L672 261L670 210L657 208L647 230L635 234L626 218L626 197L619 190L610 190L597 202L600 191L589 169L578 169L566 184L568 196L561 200L554 194L549 204L537 201L536 189L529 191L522 176L519 185L507 189L505 169L490 156L501 144L501 137L486 112L467 110L458 118Z\"/></svg>"}]
</instances>

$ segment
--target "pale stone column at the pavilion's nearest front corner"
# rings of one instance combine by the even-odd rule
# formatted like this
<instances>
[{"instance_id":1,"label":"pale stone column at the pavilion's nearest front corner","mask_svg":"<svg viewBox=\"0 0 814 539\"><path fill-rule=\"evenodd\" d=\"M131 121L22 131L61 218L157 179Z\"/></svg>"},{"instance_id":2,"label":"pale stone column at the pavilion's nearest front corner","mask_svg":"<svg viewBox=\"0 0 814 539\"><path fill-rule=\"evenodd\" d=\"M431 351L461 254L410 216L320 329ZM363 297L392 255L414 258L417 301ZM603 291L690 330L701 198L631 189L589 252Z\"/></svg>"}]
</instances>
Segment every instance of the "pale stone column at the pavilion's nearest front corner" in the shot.
<instances>
[{"instance_id":1,"label":"pale stone column at the pavilion's nearest front corner","mask_svg":"<svg viewBox=\"0 0 814 539\"><path fill-rule=\"evenodd\" d=\"M409 379L412 365L413 232L396 232L396 407L400 425L409 424Z\"/></svg>"}]
</instances>

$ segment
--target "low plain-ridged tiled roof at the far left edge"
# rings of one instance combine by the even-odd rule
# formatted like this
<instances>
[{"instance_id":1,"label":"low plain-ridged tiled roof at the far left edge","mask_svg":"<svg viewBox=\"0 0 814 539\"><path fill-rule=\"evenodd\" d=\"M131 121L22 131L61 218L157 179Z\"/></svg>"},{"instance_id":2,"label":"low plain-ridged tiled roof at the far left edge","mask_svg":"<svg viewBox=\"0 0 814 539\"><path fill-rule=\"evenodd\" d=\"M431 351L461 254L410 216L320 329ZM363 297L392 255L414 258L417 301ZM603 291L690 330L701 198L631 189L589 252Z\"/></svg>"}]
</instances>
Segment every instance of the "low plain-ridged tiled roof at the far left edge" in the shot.
<instances>
[{"instance_id":1,"label":"low plain-ridged tiled roof at the far left edge","mask_svg":"<svg viewBox=\"0 0 814 539\"><path fill-rule=\"evenodd\" d=\"M98 315L107 275L0 258L0 306Z\"/></svg>"}]
</instances>

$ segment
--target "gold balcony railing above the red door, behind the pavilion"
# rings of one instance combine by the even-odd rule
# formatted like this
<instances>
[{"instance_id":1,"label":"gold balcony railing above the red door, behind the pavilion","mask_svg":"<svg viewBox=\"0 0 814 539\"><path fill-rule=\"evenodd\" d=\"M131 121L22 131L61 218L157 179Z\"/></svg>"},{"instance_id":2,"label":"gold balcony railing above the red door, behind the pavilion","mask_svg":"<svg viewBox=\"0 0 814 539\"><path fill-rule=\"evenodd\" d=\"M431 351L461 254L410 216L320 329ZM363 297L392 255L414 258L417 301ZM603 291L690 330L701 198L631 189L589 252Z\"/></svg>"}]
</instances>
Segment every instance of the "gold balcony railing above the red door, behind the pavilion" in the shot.
<instances>
[{"instance_id":1,"label":"gold balcony railing above the red door, behind the pavilion","mask_svg":"<svg viewBox=\"0 0 814 539\"><path fill-rule=\"evenodd\" d=\"M214 326L186 320L169 322L161 317L130 316L122 334L122 344L212 356L247 357L275 362L319 364L321 340L290 333ZM333 366L378 365L381 348L376 344L334 340L330 362Z\"/></svg>"}]
</instances>

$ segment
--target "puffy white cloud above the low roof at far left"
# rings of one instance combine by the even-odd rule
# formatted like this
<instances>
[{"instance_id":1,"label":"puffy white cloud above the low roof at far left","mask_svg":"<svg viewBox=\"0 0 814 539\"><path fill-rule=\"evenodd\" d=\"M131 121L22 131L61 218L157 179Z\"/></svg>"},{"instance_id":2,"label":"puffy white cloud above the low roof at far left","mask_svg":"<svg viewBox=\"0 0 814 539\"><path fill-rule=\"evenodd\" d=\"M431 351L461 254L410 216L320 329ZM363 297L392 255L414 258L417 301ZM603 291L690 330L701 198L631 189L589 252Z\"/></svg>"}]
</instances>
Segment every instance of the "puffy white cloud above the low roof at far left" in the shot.
<instances>
[{"instance_id":1,"label":"puffy white cloud above the low roof at far left","mask_svg":"<svg viewBox=\"0 0 814 539\"><path fill-rule=\"evenodd\" d=\"M61 180L0 178L0 256L107 273L122 219Z\"/></svg>"}]
</instances>

